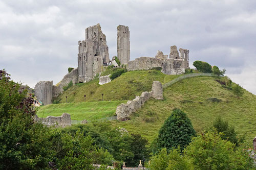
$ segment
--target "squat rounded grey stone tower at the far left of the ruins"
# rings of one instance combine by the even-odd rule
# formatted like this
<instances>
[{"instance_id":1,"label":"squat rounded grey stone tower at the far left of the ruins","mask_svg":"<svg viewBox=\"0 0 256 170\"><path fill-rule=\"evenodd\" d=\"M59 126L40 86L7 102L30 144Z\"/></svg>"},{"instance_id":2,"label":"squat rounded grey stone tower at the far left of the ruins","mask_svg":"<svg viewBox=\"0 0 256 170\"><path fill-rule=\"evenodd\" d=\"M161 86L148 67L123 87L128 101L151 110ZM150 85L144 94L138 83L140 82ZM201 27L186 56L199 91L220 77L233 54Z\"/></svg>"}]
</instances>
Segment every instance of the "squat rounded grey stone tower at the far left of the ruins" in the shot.
<instances>
[{"instance_id":1,"label":"squat rounded grey stone tower at the far left of the ruins","mask_svg":"<svg viewBox=\"0 0 256 170\"><path fill-rule=\"evenodd\" d=\"M52 103L52 81L40 81L35 85L35 96L44 105Z\"/></svg>"}]
</instances>

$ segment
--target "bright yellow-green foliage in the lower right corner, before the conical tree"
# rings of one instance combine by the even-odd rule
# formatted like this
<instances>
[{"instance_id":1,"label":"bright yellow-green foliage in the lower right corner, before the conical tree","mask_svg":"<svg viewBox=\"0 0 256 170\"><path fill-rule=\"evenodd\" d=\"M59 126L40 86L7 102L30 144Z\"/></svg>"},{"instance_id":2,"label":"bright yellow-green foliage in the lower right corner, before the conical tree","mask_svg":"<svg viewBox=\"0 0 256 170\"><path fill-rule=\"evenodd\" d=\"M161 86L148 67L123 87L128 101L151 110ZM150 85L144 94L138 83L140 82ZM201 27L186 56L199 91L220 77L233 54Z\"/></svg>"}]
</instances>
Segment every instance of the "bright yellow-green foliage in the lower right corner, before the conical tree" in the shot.
<instances>
[{"instance_id":1,"label":"bright yellow-green foliage in the lower right corner, before the conical tree","mask_svg":"<svg viewBox=\"0 0 256 170\"><path fill-rule=\"evenodd\" d=\"M151 158L149 169L255 169L244 147L221 138L214 131L194 137L181 154L179 148L162 149Z\"/></svg>"}]
</instances>

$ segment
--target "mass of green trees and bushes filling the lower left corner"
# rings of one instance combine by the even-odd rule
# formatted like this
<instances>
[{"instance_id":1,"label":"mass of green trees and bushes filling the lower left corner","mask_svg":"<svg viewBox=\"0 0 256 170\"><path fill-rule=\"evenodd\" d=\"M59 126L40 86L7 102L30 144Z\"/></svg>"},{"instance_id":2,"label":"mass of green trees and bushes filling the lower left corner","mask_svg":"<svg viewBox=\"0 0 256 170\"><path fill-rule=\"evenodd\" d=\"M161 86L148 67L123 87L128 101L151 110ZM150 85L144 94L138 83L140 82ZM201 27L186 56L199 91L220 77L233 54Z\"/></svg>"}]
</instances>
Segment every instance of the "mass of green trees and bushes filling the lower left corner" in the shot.
<instances>
[{"instance_id":1,"label":"mass of green trees and bushes filling the lower left corner","mask_svg":"<svg viewBox=\"0 0 256 170\"><path fill-rule=\"evenodd\" d=\"M0 169L94 169L114 159L83 132L34 123L34 100L0 70Z\"/></svg>"}]
</instances>

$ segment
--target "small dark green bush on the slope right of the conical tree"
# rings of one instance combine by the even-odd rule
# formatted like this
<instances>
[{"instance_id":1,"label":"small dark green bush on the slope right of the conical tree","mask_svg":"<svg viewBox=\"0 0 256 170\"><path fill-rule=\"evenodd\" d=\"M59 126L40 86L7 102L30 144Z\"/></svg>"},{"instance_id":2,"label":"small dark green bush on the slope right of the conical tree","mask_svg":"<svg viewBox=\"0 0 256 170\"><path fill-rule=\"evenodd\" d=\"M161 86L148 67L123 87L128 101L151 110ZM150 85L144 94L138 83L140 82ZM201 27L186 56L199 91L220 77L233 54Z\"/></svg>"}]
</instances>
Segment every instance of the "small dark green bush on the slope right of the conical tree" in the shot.
<instances>
[{"instance_id":1,"label":"small dark green bush on the slope right of the conical tree","mask_svg":"<svg viewBox=\"0 0 256 170\"><path fill-rule=\"evenodd\" d=\"M222 139L229 140L230 142L236 144L236 146L244 141L244 136L242 138L238 138L234 127L230 126L228 122L223 120L220 116L215 119L213 127L218 133L222 133Z\"/></svg>"}]
</instances>

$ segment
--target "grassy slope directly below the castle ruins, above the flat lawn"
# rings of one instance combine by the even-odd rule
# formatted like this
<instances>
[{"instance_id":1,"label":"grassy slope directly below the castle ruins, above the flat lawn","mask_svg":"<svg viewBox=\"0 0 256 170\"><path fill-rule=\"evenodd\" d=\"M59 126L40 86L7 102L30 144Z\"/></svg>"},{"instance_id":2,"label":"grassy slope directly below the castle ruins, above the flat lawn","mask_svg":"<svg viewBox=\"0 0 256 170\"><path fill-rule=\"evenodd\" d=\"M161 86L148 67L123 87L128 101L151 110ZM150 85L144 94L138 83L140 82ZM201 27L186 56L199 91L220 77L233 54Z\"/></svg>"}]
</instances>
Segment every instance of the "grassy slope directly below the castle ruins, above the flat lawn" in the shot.
<instances>
[{"instance_id":1,"label":"grassy slope directly below the castle ruins, above the flat lawn","mask_svg":"<svg viewBox=\"0 0 256 170\"><path fill-rule=\"evenodd\" d=\"M68 102L83 102L84 94L87 101L97 102L102 100L102 93L105 101L132 100L143 91L151 91L153 81L164 83L176 77L179 75L166 76L159 70L129 71L108 84L99 85L99 79L95 79L88 83L73 85L59 96L60 103L66 102L66 96Z\"/></svg>"}]
</instances>

